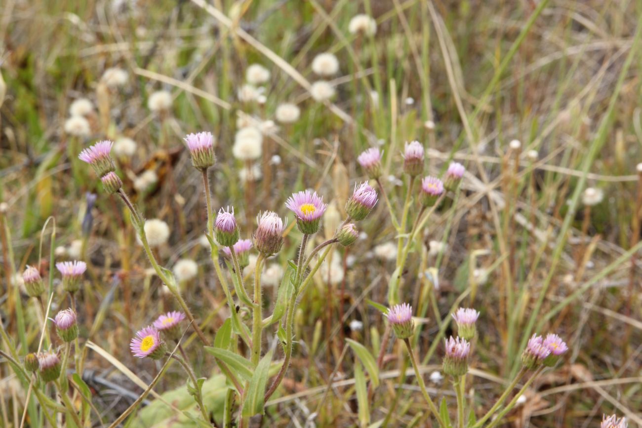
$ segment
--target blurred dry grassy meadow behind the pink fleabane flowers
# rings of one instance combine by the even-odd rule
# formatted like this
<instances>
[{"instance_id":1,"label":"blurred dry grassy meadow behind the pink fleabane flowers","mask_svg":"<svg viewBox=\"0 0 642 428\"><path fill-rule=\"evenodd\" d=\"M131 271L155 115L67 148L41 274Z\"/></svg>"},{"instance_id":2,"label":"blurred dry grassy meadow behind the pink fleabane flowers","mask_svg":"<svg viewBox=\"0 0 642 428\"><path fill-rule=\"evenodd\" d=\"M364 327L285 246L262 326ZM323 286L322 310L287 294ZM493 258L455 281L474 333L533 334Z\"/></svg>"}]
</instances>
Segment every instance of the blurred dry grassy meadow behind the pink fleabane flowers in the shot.
<instances>
[{"instance_id":1,"label":"blurred dry grassy meadow behind the pink fleabane flowers","mask_svg":"<svg viewBox=\"0 0 642 428\"><path fill-rule=\"evenodd\" d=\"M376 34L349 31L358 13L376 19ZM367 179L356 157L370 146L385 151L383 184L401 211L401 152L416 139L429 173L453 159L467 167L461 190L431 219L404 273L404 298L423 323L417 351L429 391L454 400L438 370L443 337L453 329L449 314L465 298L482 312L467 391L476 408L487 409L519 369L530 334L555 330L568 356L532 385L503 426L598 427L602 413L642 426L640 31L642 2L627 0L3 0L6 336L20 355L40 339L40 306L16 274L26 264L46 272L50 261L82 259L88 270L78 316L82 342L91 341L83 380L92 411L108 424L143 391L134 377L150 382L157 373L156 362L132 357L128 342L177 307L123 206L77 158L98 140L135 141L132 155L117 158L124 187L146 218L168 223L168 243L157 249L164 266L198 264L182 291L213 336L229 312L203 245L203 185L184 135L216 136L213 205L234 205L242 237L252 234L259 211L285 216L292 192L315 189L334 213L319 240L324 230L332 236L352 186ZM311 63L323 52L336 55L339 72L327 79L334 97L318 102L309 92L320 80ZM259 102L244 103L238 94L251 64L265 66L270 78ZM106 87L110 68L126 72L123 85ZM159 90L171 94L169 108L150 103ZM89 129L73 135L69 107L79 98L93 110ZM282 103L300 108L295 123L275 119ZM234 134L248 122L265 131L253 162L232 155ZM148 171L156 180L143 189L137 180ZM95 203L87 193L98 195ZM275 272L296 257L294 225L290 219L285 250L264 274L268 305L280 282ZM379 352L385 323L368 301L386 304L397 248L383 200L359 227L357 243L334 252L302 297L291 368L262 426L360 424L355 356L345 339ZM52 311L62 304L54 299ZM266 347L277 346L272 336ZM189 346L194 339L186 347L196 372L210 379L207 400L217 409L224 380L211 355ZM370 418L428 426L413 377L397 384L401 355L392 343L385 352ZM155 388L162 400L148 397L130 426L187 425L175 411L193 406L184 389L173 364ZM20 425L26 395L0 359L0 425Z\"/></svg>"}]
</instances>

